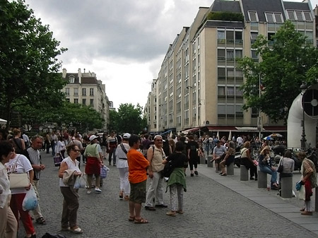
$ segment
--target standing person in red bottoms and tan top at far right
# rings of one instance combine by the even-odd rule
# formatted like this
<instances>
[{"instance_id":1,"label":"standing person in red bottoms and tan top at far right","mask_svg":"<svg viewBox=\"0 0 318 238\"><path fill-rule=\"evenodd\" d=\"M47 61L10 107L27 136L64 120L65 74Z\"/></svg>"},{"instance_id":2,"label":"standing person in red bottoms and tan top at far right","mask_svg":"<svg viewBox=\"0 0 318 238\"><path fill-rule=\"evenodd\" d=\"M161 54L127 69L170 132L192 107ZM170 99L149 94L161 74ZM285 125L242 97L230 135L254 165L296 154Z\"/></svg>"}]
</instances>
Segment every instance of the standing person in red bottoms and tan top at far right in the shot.
<instances>
[{"instance_id":1,"label":"standing person in red bottoms and tan top at far right","mask_svg":"<svg viewBox=\"0 0 318 238\"><path fill-rule=\"evenodd\" d=\"M305 203L304 207L300 209L302 215L312 215L312 208L310 204L310 197L312 196L312 189L317 187L316 168L312 160L308 160L305 152L298 153L298 157L302 161L302 186L305 186Z\"/></svg>"}]
</instances>

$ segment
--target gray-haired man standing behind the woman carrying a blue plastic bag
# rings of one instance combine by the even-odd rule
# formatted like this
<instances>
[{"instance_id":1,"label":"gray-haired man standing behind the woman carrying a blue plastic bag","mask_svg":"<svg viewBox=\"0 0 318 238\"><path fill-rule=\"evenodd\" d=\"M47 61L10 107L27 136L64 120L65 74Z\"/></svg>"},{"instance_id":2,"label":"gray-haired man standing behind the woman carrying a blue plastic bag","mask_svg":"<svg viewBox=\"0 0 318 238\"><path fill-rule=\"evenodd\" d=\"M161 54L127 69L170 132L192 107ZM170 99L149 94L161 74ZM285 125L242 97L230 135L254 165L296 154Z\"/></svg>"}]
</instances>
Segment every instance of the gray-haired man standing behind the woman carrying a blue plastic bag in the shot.
<instances>
[{"instance_id":1,"label":"gray-haired man standing behind the woman carrying a blue plastic bag","mask_svg":"<svg viewBox=\"0 0 318 238\"><path fill-rule=\"evenodd\" d=\"M33 177L33 189L35 194L37 195L37 200L40 201L40 196L38 193L38 186L39 186L39 179L40 173L43 169L45 169L45 165L41 163L41 154L40 149L43 145L43 138L42 136L35 135L32 137L31 146L27 150L23 151L23 155L25 155L33 167L34 177ZM39 203L35 210L32 211L35 221L40 225L46 225L45 219L42 216L41 209Z\"/></svg>"}]
</instances>

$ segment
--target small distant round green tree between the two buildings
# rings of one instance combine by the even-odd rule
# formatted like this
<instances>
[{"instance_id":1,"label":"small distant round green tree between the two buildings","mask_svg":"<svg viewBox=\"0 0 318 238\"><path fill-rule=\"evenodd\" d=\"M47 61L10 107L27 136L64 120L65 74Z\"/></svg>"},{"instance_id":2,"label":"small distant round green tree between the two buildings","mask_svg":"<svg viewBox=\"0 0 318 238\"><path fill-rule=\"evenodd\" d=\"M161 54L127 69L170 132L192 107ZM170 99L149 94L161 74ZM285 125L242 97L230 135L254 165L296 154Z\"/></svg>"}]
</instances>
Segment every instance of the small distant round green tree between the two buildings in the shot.
<instances>
[{"instance_id":1,"label":"small distant round green tree between the two buildings","mask_svg":"<svg viewBox=\"0 0 318 238\"><path fill-rule=\"evenodd\" d=\"M146 127L146 120L142 117L143 108L131 104L119 105L118 112L110 111L110 130L125 133L139 133Z\"/></svg>"}]
</instances>

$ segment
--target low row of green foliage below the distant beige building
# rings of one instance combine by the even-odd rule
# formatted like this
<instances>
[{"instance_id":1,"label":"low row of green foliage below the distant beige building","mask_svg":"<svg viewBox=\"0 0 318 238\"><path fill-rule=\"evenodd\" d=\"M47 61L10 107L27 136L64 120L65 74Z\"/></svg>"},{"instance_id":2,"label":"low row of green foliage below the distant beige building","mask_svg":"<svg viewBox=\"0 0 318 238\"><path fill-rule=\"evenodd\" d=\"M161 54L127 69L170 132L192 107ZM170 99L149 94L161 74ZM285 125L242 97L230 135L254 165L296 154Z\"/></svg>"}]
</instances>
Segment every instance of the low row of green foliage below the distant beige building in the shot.
<instances>
[{"instance_id":1,"label":"low row of green foliage below the distant beige building","mask_svg":"<svg viewBox=\"0 0 318 238\"><path fill-rule=\"evenodd\" d=\"M59 107L49 107L47 110L37 109L24 105L18 107L22 114L23 124L44 124L56 122L57 126L75 126L78 131L100 129L104 119L100 112L86 105L63 102Z\"/></svg>"}]
</instances>

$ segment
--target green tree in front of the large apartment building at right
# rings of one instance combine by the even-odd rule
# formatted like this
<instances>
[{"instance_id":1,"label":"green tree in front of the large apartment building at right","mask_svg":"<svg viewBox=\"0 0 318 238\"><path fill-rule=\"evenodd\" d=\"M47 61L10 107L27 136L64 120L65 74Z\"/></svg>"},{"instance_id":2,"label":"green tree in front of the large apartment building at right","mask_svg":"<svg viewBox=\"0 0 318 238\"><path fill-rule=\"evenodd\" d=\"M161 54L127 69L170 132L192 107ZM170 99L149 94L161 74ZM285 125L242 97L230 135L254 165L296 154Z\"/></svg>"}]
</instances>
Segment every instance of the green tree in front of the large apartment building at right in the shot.
<instances>
[{"instance_id":1,"label":"green tree in front of the large apartment building at right","mask_svg":"<svg viewBox=\"0 0 318 238\"><path fill-rule=\"evenodd\" d=\"M307 85L317 83L318 50L306 39L295 31L290 21L286 21L269 40L259 35L252 47L257 49L261 62L249 57L240 60L246 79L241 87L244 109L258 108L273 121L286 121L288 111L285 108L289 109L300 93L302 82ZM259 87L260 78L262 87Z\"/></svg>"}]
</instances>

